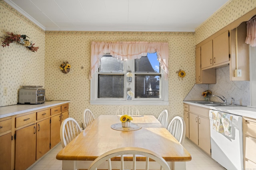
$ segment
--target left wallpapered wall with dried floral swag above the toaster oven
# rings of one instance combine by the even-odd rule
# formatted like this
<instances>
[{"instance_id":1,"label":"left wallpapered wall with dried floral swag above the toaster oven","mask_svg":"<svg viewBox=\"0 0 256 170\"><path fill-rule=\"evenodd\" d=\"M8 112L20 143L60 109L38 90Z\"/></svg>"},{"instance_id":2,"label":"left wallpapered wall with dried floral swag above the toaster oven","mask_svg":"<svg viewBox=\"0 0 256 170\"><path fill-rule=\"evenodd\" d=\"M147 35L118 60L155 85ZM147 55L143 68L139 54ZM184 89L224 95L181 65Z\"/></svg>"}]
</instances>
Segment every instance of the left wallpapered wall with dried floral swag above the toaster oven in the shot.
<instances>
[{"instance_id":1,"label":"left wallpapered wall with dried floral swag above the toaster oven","mask_svg":"<svg viewBox=\"0 0 256 170\"><path fill-rule=\"evenodd\" d=\"M39 49L34 53L17 42L0 47L0 106L17 104L22 86L44 86L44 30L0 0L0 37L5 37L7 31L27 35Z\"/></svg>"}]
</instances>

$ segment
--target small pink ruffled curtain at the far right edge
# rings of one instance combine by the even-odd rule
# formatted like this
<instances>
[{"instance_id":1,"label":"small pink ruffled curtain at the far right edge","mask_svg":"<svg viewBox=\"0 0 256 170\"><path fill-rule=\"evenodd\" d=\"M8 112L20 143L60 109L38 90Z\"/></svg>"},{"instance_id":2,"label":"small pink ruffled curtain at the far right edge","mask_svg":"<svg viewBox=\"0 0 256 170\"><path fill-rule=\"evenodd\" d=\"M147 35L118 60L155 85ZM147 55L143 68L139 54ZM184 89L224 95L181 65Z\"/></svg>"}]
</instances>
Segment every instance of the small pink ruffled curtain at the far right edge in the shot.
<instances>
[{"instance_id":1,"label":"small pink ruffled curtain at the far right edge","mask_svg":"<svg viewBox=\"0 0 256 170\"><path fill-rule=\"evenodd\" d=\"M245 43L256 47L256 16L251 18L247 23L247 36Z\"/></svg>"}]
</instances>

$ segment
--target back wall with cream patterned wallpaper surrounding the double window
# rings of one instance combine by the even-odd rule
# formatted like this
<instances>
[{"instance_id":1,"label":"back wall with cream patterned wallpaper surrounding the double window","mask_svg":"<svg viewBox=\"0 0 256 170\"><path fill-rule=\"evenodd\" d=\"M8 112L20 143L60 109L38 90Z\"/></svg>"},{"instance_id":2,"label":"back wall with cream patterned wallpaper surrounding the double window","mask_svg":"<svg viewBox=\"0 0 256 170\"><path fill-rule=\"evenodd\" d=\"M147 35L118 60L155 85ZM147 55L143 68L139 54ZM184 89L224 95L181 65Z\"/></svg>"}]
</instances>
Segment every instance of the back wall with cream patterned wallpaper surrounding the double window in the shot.
<instances>
[{"instance_id":1,"label":"back wall with cream patterned wallpaper surrounding the double window","mask_svg":"<svg viewBox=\"0 0 256 170\"><path fill-rule=\"evenodd\" d=\"M166 41L169 43L169 106L137 106L142 114L158 116L168 109L170 118L183 115L182 100L194 85L195 37L194 33L142 33L142 32L58 32L46 31L45 88L46 97L70 100L70 116L80 123L85 108L100 114L115 114L118 106L90 105L90 45L91 41ZM68 61L68 74L60 71L59 64ZM186 71L183 80L176 71Z\"/></svg>"}]
</instances>

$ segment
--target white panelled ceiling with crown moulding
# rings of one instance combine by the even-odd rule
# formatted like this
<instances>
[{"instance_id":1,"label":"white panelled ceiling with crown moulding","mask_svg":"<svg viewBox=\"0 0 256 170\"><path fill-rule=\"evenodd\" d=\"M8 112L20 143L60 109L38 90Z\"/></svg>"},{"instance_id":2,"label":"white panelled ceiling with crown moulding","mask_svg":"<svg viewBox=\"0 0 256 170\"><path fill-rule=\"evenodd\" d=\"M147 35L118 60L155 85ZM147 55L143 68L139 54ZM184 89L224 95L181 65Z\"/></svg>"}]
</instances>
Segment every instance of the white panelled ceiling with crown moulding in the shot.
<instances>
[{"instance_id":1,"label":"white panelled ceiling with crown moulding","mask_svg":"<svg viewBox=\"0 0 256 170\"><path fill-rule=\"evenodd\" d=\"M230 0L4 0L46 31L194 31Z\"/></svg>"}]
</instances>

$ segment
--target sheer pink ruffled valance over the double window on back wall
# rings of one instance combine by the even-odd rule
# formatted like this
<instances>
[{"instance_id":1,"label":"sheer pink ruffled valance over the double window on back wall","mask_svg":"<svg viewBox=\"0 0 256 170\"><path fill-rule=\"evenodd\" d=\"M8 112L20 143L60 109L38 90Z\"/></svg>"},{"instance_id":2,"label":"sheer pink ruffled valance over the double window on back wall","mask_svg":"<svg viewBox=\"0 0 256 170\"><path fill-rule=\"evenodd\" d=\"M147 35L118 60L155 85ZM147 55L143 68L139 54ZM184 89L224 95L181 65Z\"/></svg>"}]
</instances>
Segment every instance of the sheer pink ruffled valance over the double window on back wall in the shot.
<instances>
[{"instance_id":1,"label":"sheer pink ruffled valance over the double window on back wall","mask_svg":"<svg viewBox=\"0 0 256 170\"><path fill-rule=\"evenodd\" d=\"M100 59L103 55L109 53L113 57L120 60L140 59L147 56L147 53L157 53L157 59L160 67L166 72L165 79L168 79L168 57L169 47L168 43L161 42L98 42L92 41L91 45L91 69L89 79L100 66Z\"/></svg>"}]
</instances>

